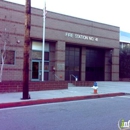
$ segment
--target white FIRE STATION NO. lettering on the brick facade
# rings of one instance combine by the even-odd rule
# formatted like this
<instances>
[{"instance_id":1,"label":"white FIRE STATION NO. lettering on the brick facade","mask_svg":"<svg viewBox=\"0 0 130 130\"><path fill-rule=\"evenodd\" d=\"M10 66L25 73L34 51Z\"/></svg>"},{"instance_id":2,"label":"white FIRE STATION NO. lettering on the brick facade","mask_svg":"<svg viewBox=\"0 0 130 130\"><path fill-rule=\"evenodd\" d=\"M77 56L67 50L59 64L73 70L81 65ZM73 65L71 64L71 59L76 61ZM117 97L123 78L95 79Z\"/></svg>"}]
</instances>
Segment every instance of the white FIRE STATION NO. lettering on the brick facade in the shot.
<instances>
[{"instance_id":1,"label":"white FIRE STATION NO. lettering on the brick facade","mask_svg":"<svg viewBox=\"0 0 130 130\"><path fill-rule=\"evenodd\" d=\"M89 40L89 41L98 41L97 37L92 37L92 36L87 36L87 35L81 35L81 34L76 34L76 33L65 33L66 37L70 38L77 38L77 39L83 39L83 40Z\"/></svg>"}]
</instances>

